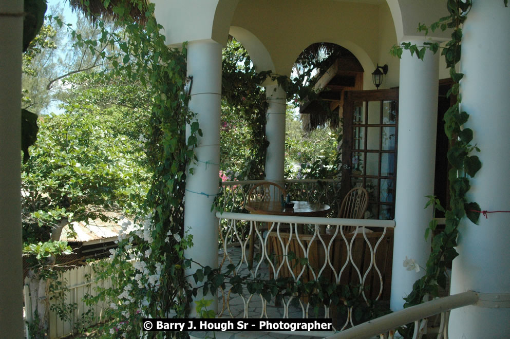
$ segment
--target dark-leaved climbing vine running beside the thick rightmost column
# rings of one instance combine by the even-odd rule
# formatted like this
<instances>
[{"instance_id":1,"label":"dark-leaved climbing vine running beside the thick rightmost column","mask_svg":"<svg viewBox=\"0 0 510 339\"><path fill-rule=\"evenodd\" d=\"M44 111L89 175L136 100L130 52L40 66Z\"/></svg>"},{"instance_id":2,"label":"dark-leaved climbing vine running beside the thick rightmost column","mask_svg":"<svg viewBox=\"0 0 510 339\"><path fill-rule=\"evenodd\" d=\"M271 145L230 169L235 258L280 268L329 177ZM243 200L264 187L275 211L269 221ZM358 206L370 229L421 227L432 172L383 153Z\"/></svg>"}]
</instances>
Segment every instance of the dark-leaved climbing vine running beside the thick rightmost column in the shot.
<instances>
[{"instance_id":1,"label":"dark-leaved climbing vine running beside the thick rightmost column","mask_svg":"<svg viewBox=\"0 0 510 339\"><path fill-rule=\"evenodd\" d=\"M508 1L503 0L503 3L507 7ZM455 247L457 246L460 221L463 217L467 217L473 223L478 223L479 213L475 211L480 211L480 206L476 202L468 202L466 193L470 189L469 178L473 178L482 166L478 156L472 155L475 150L480 152L480 149L476 144L472 144L473 130L462 127L468 121L469 115L460 109L462 98L459 93L459 82L464 74L456 71L456 65L461 59L462 24L465 22L472 4L471 0L448 0L448 16L440 18L430 26L419 25L418 30L424 32L425 35L429 30L433 32L436 29L442 31L452 29L451 40L446 43L444 48L437 42L426 42L423 46L403 43L393 46L391 50L391 54L399 58L403 50L408 50L411 55L415 54L423 60L427 49L433 53L442 49L441 55L445 57L450 77L454 81L454 85L448 91L448 96L457 97L457 102L444 115L445 133L449 139L447 158L451 165L451 170L448 173L450 209L445 213L445 229L433 236L426 274L415 281L412 292L404 298L404 307L422 303L427 295L429 298L438 296L438 287L446 288L446 267L459 255ZM427 206L432 203L435 204L435 208L442 209L437 199L430 198L431 201L427 203ZM432 220L425 232L425 238L428 238L429 234L436 230L436 227L437 221Z\"/></svg>"}]
</instances>

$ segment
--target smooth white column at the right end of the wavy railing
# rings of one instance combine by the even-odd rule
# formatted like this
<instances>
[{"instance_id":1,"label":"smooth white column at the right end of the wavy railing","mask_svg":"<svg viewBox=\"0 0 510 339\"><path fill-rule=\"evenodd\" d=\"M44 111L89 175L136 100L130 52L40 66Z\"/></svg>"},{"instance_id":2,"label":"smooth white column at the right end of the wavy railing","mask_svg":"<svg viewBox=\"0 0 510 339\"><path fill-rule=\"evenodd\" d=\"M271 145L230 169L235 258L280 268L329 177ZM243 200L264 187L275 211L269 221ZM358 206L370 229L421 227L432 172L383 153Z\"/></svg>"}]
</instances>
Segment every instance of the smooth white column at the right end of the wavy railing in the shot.
<instances>
[{"instance_id":1,"label":"smooth white column at the right end of the wavy railing","mask_svg":"<svg viewBox=\"0 0 510 339\"><path fill-rule=\"evenodd\" d=\"M411 41L422 46L426 40ZM395 234L391 301L393 311L404 306L403 297L424 272L407 271L407 256L425 267L430 237L425 229L432 209L424 209L427 195L434 193L436 126L438 116L439 53L425 54L424 61L407 51L400 61L399 148L396 165Z\"/></svg>"}]
</instances>

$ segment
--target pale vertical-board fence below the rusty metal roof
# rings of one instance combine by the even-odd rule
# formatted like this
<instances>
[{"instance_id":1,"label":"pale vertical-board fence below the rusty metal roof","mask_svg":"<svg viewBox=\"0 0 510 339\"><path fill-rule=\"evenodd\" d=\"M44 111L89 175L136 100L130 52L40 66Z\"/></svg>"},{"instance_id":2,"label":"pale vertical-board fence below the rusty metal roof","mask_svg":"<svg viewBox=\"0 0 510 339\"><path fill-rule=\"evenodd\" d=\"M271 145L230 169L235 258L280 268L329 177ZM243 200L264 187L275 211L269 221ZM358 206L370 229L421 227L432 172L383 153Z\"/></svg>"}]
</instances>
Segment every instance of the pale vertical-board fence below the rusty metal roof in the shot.
<instances>
[{"instance_id":1,"label":"pale vertical-board fence below the rusty metal roof","mask_svg":"<svg viewBox=\"0 0 510 339\"><path fill-rule=\"evenodd\" d=\"M104 310L109 307L106 302L88 306L84 297L96 296L96 288L108 288L111 280L99 280L92 268L93 264L73 268L59 273L59 278L50 281L55 289L49 289L49 339L60 338L84 327L100 323L104 318ZM26 321L31 322L33 317L32 304L35 300L30 297L28 285L24 288ZM65 312L59 315L54 307ZM87 313L88 312L88 313ZM27 338L29 338L27 333Z\"/></svg>"}]
</instances>

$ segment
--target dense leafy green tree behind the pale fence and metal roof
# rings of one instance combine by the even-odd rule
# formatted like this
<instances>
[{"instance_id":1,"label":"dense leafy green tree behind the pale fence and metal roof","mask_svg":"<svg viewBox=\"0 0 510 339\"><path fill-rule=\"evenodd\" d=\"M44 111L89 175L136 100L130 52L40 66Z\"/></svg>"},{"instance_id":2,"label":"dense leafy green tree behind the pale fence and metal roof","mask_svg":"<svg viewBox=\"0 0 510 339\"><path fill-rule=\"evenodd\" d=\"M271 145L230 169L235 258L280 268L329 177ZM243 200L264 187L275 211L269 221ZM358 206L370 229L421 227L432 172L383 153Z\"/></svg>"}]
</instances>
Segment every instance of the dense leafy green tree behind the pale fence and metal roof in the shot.
<instances>
[{"instance_id":1,"label":"dense leafy green tree behind the pale fence and metal roof","mask_svg":"<svg viewBox=\"0 0 510 339\"><path fill-rule=\"evenodd\" d=\"M40 278L54 276L54 255L69 252L59 241L66 224L105 219L105 211L134 215L148 189L143 88L97 73L75 74L68 85L73 96L65 112L39 119L37 142L22 167L24 252L31 291L40 295ZM47 300L35 307L41 332L47 310Z\"/></svg>"}]
</instances>

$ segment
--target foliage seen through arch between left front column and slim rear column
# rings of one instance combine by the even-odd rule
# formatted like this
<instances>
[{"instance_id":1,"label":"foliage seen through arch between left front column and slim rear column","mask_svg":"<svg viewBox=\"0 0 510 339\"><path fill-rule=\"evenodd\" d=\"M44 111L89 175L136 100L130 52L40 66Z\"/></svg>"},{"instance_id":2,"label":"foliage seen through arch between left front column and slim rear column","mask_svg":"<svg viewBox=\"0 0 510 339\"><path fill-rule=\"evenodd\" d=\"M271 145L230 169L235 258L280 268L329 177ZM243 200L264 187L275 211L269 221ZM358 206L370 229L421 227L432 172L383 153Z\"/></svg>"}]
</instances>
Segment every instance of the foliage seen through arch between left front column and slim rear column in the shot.
<instances>
[{"instance_id":1,"label":"foliage seen through arch between left front column and slim rear column","mask_svg":"<svg viewBox=\"0 0 510 339\"><path fill-rule=\"evenodd\" d=\"M248 52L232 39L223 49L221 80L220 169L234 180L264 177L266 92L261 83L269 71L256 72ZM239 147L239 141L243 146Z\"/></svg>"}]
</instances>

